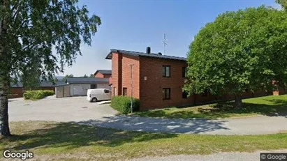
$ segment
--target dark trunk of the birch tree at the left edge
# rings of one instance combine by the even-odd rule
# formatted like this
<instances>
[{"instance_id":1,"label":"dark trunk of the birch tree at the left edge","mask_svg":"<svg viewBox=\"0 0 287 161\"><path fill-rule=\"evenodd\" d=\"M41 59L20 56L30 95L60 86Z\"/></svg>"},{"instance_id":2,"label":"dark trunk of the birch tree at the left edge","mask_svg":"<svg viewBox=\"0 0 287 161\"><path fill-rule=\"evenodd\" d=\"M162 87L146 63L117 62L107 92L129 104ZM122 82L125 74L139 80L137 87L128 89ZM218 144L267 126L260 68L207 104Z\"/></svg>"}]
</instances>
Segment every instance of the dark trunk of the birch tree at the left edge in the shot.
<instances>
[{"instance_id":1,"label":"dark trunk of the birch tree at the left edge","mask_svg":"<svg viewBox=\"0 0 287 161\"><path fill-rule=\"evenodd\" d=\"M2 6L3 5L3 6ZM7 1L1 3L1 7L7 7ZM8 55L6 53L6 21L0 17L0 135L10 137L8 122L8 88L10 83Z\"/></svg>"}]
</instances>

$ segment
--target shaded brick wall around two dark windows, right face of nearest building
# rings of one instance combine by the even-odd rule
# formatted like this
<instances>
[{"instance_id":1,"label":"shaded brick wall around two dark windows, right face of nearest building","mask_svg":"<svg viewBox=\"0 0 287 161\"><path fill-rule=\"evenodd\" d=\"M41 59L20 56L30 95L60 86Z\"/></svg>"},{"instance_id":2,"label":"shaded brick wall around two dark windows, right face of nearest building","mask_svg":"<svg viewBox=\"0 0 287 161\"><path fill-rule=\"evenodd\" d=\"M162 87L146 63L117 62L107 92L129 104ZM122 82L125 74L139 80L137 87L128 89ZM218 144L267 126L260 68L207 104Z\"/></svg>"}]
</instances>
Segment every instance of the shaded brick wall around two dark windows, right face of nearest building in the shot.
<instances>
[{"instance_id":1,"label":"shaded brick wall around two dark windows, right face of nearest building","mask_svg":"<svg viewBox=\"0 0 287 161\"><path fill-rule=\"evenodd\" d=\"M170 66L170 77L162 76L162 67ZM185 61L140 57L140 109L156 109L193 104L193 97L182 98ZM170 100L163 100L163 88L170 88Z\"/></svg>"}]
</instances>

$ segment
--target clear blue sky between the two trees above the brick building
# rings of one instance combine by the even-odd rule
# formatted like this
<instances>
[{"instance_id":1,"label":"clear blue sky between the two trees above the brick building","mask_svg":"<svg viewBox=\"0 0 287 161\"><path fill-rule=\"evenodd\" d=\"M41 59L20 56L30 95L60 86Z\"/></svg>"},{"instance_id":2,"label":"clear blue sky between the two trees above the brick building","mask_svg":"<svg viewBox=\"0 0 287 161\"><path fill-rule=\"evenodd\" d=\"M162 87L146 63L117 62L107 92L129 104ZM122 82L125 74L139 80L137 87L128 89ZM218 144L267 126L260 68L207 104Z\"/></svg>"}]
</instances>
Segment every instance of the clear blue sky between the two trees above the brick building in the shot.
<instances>
[{"instance_id":1,"label":"clear blue sky between the two trees above the brick building","mask_svg":"<svg viewBox=\"0 0 287 161\"><path fill-rule=\"evenodd\" d=\"M78 56L64 75L90 75L98 69L111 69L105 60L110 49L125 49L163 53L163 34L166 34L166 55L186 57L189 44L201 27L217 15L231 10L265 4L279 8L273 0L80 0L91 14L101 17L102 24L92 37L91 47L82 45ZM63 74L61 74L63 75Z\"/></svg>"}]
</instances>

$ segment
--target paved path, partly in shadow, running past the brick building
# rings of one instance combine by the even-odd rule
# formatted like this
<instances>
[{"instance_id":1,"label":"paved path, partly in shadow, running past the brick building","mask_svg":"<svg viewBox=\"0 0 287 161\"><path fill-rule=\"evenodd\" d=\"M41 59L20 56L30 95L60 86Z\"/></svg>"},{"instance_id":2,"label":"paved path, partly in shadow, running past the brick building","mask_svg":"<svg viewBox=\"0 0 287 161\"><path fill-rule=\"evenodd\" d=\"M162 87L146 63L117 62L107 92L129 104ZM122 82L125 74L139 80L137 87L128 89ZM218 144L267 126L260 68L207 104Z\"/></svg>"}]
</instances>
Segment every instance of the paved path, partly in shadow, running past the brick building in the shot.
<instances>
[{"instance_id":1,"label":"paved path, partly in shadow, running past the brick building","mask_svg":"<svg viewBox=\"0 0 287 161\"><path fill-rule=\"evenodd\" d=\"M105 121L89 120L77 123L122 130L205 135L260 135L287 131L286 116L256 116L222 120L112 116Z\"/></svg>"}]
</instances>

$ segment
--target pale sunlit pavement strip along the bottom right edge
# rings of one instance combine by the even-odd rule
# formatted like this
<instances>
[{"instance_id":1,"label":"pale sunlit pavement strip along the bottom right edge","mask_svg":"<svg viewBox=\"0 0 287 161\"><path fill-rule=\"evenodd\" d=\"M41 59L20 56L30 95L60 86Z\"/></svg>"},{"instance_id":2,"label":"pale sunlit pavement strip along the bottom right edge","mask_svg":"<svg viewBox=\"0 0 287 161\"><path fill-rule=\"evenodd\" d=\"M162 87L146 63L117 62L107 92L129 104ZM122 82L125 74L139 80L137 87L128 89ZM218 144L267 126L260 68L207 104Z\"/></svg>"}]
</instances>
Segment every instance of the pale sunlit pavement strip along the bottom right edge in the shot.
<instances>
[{"instance_id":1,"label":"pale sunlit pavement strip along the bottom right edge","mask_svg":"<svg viewBox=\"0 0 287 161\"><path fill-rule=\"evenodd\" d=\"M260 160L260 153L287 153L287 149L278 151L256 151L253 153L214 153L212 155L170 155L165 157L149 157L149 158L139 158L133 161L254 161Z\"/></svg>"}]
</instances>

